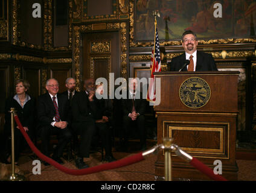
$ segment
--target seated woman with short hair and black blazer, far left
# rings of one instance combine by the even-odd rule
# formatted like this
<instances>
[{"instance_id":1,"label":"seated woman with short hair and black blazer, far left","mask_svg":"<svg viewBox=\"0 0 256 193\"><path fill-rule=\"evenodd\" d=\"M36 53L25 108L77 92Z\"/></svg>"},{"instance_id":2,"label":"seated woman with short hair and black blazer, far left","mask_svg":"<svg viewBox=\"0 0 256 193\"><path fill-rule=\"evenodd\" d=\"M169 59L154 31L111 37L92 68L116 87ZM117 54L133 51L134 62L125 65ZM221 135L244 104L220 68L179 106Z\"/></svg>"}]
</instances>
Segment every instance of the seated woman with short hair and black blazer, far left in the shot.
<instances>
[{"instance_id":1,"label":"seated woman with short hair and black blazer, far left","mask_svg":"<svg viewBox=\"0 0 256 193\"><path fill-rule=\"evenodd\" d=\"M34 98L27 94L30 84L26 80L16 80L15 90L16 95L10 96L5 101L5 125L4 133L5 137L9 138L11 136L11 113L10 108L13 107L16 110L21 124L23 125L25 131L32 136L32 130L34 127L34 115L35 115L35 101ZM25 139L22 136L21 131L19 131L18 125L14 124L14 162L18 164L19 154L22 151L22 146L24 145ZM11 150L7 150L7 163L11 161Z\"/></svg>"}]
</instances>

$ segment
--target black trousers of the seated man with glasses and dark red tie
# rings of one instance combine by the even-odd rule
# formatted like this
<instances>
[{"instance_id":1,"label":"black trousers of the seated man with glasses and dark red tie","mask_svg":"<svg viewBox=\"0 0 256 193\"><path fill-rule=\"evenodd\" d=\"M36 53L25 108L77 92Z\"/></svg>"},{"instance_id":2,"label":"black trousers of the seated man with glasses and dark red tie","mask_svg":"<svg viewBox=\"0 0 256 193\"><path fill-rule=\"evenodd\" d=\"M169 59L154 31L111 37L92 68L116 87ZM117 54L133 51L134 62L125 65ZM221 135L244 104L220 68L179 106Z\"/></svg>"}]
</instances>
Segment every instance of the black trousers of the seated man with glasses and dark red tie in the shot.
<instances>
[{"instance_id":1,"label":"black trousers of the seated man with glasses and dark red tie","mask_svg":"<svg viewBox=\"0 0 256 193\"><path fill-rule=\"evenodd\" d=\"M57 135L58 144L54 149L53 158L62 157L63 150L66 144L68 144L68 142L72 138L71 131L69 131L68 127L62 129L62 128L53 127L52 125L42 126L40 128L40 138L42 140L42 153L45 154L46 156L50 156L50 152L49 152L50 136L54 134Z\"/></svg>"}]
</instances>

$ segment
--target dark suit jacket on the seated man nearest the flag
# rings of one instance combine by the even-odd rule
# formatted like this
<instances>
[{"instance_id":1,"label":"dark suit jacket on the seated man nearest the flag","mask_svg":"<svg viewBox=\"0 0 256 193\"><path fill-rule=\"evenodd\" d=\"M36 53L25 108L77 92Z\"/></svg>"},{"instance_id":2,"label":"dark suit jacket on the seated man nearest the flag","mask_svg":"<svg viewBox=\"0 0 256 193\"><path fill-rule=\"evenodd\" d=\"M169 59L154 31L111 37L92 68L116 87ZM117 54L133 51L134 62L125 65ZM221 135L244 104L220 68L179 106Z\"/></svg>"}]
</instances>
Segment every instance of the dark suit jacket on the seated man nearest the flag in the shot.
<instances>
[{"instance_id":1,"label":"dark suit jacket on the seated man nearest the flag","mask_svg":"<svg viewBox=\"0 0 256 193\"><path fill-rule=\"evenodd\" d=\"M129 96L129 95L130 95L130 92L128 91L127 99L122 100L123 116L128 116L129 113L132 113L132 96ZM142 92L138 92L138 91L136 92L134 104L135 104L136 113L139 113L139 115L144 115L146 111L147 101L146 99L142 98Z\"/></svg>"}]
</instances>

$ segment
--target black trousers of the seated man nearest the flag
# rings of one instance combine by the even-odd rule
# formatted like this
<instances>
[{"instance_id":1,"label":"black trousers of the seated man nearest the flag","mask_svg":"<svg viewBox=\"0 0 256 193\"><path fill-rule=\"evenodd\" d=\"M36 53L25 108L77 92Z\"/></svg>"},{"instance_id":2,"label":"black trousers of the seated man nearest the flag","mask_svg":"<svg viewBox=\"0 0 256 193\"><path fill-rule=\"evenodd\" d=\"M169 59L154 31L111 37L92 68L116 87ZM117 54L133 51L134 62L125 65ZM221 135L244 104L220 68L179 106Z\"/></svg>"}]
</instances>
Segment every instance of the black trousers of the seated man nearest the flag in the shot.
<instances>
[{"instance_id":1,"label":"black trousers of the seated man nearest the flag","mask_svg":"<svg viewBox=\"0 0 256 193\"><path fill-rule=\"evenodd\" d=\"M127 140L131 133L131 127L136 126L139 132L139 139L141 148L146 147L146 129L145 129L145 116L139 115L136 120L132 121L129 116L123 116L123 138L124 143L127 144Z\"/></svg>"}]
</instances>

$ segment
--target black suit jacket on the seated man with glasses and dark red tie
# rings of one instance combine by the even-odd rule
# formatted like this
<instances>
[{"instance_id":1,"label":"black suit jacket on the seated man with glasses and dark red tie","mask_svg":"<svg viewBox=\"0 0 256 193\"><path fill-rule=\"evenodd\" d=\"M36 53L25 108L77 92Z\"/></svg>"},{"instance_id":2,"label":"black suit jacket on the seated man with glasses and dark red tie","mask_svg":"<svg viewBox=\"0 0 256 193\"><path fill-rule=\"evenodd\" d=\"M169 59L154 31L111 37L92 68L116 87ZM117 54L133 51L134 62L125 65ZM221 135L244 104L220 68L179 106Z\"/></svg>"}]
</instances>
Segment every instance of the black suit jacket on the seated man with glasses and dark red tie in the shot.
<instances>
[{"instance_id":1,"label":"black suit jacket on the seated man with glasses and dark red tie","mask_svg":"<svg viewBox=\"0 0 256 193\"><path fill-rule=\"evenodd\" d=\"M70 113L69 113L69 103L68 99L65 96L57 93L58 100L58 110L60 114L60 120L66 121L70 124ZM37 108L37 117L39 125L50 125L53 122L53 118L56 114L53 100L48 92L39 96L38 98L38 108Z\"/></svg>"}]
</instances>

